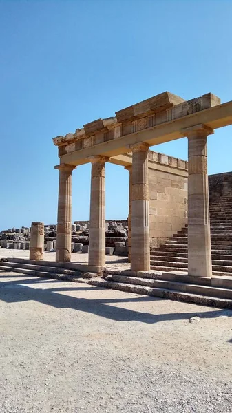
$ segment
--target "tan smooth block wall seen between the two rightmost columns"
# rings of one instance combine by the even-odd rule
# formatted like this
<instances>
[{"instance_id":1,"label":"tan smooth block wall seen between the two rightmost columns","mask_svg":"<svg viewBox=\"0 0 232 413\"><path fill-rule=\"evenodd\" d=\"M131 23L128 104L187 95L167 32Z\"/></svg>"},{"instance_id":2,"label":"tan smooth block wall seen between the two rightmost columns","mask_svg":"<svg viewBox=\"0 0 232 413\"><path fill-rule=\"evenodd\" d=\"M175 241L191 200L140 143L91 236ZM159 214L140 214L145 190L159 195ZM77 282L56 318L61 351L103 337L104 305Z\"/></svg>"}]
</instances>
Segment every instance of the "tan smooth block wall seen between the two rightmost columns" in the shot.
<instances>
[{"instance_id":1,"label":"tan smooth block wall seen between the two rightmost columns","mask_svg":"<svg viewBox=\"0 0 232 413\"><path fill-rule=\"evenodd\" d=\"M149 153L150 244L162 244L187 224L187 162Z\"/></svg>"}]
</instances>

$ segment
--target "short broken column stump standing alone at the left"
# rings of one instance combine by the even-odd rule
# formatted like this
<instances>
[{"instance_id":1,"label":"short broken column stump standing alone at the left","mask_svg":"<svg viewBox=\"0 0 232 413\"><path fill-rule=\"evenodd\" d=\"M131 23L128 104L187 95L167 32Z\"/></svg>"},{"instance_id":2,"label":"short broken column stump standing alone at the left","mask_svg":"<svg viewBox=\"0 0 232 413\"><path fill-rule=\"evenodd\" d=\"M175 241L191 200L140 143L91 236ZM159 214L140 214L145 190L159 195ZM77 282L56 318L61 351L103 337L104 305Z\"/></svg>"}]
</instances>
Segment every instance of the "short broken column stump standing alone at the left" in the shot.
<instances>
[{"instance_id":1,"label":"short broken column stump standing alone at the left","mask_svg":"<svg viewBox=\"0 0 232 413\"><path fill-rule=\"evenodd\" d=\"M44 224L32 222L30 235L30 260L43 260Z\"/></svg>"}]
</instances>

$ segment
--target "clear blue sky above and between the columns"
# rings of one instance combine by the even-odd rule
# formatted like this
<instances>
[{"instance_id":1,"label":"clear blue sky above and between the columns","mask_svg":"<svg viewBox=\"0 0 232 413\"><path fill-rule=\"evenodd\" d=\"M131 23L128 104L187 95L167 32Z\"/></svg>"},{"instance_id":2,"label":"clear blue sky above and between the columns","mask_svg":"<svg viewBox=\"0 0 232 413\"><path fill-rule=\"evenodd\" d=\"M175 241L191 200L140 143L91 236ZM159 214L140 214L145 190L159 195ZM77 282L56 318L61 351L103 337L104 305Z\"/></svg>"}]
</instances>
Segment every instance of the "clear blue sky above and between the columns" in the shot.
<instances>
[{"instance_id":1,"label":"clear blue sky above and between the columns","mask_svg":"<svg viewBox=\"0 0 232 413\"><path fill-rule=\"evenodd\" d=\"M56 223L52 138L165 90L232 100L231 0L0 0L0 229ZM209 137L209 173L231 171L232 127ZM187 159L187 139L151 149ZM128 171L106 166L106 218L126 218ZM90 166L73 172L89 219Z\"/></svg>"}]
</instances>

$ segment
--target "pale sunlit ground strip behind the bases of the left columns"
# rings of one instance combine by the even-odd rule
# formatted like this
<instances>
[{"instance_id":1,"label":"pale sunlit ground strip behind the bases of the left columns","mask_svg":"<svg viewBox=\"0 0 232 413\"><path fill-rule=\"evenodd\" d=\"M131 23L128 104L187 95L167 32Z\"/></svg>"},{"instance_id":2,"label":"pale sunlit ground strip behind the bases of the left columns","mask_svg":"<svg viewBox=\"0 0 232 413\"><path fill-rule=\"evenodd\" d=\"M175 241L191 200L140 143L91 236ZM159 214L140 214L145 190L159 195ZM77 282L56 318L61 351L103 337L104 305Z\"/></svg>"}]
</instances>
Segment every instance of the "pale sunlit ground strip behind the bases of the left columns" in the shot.
<instances>
[{"instance_id":1,"label":"pale sunlit ground strip behind the bases of the left columns","mask_svg":"<svg viewBox=\"0 0 232 413\"><path fill-rule=\"evenodd\" d=\"M88 264L89 254L78 254L72 253L72 262L78 264ZM1 258L25 258L29 260L29 250L14 250L7 248L0 248L0 259ZM129 269L130 264L127 257L118 257L117 255L106 255L106 266L109 268L119 268ZM44 261L56 261L56 253L43 253Z\"/></svg>"}]
</instances>

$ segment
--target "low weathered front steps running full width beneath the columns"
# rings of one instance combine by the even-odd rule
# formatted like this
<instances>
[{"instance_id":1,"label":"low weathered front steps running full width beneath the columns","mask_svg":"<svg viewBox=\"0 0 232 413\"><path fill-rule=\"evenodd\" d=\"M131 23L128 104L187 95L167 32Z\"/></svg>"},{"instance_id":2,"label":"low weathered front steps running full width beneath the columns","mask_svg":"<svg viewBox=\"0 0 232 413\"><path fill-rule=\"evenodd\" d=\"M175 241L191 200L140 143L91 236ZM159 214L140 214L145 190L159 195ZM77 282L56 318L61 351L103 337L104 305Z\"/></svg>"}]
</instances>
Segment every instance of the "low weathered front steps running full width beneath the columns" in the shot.
<instances>
[{"instance_id":1,"label":"low weathered front steps running full width beneath the columns","mask_svg":"<svg viewBox=\"0 0 232 413\"><path fill-rule=\"evenodd\" d=\"M59 281L85 282L140 295L184 301L232 310L232 277L200 278L161 271L134 271L105 268L103 274L80 271L74 263L32 261L7 258L0 262L1 272L23 274ZM4 274L3 274L4 277Z\"/></svg>"}]
</instances>

